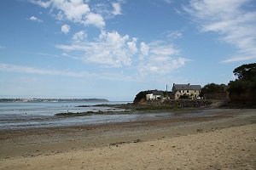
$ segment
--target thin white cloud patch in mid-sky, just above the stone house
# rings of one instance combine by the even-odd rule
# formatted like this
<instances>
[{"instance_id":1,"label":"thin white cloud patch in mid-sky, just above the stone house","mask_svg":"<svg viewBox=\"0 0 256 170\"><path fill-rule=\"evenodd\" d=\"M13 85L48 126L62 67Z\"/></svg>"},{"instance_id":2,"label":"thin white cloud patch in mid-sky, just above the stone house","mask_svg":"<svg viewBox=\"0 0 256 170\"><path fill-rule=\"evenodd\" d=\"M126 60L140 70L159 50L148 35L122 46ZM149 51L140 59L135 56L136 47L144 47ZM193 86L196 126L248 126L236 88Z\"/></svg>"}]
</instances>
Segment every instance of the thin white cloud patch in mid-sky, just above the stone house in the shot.
<instances>
[{"instance_id":1,"label":"thin white cloud patch in mid-sky, just above the stone house","mask_svg":"<svg viewBox=\"0 0 256 170\"><path fill-rule=\"evenodd\" d=\"M138 73L143 77L148 75L166 75L189 61L189 59L177 57L179 50L167 42L156 41L148 44L142 42L141 52L148 56L143 58L138 67Z\"/></svg>"}]
</instances>

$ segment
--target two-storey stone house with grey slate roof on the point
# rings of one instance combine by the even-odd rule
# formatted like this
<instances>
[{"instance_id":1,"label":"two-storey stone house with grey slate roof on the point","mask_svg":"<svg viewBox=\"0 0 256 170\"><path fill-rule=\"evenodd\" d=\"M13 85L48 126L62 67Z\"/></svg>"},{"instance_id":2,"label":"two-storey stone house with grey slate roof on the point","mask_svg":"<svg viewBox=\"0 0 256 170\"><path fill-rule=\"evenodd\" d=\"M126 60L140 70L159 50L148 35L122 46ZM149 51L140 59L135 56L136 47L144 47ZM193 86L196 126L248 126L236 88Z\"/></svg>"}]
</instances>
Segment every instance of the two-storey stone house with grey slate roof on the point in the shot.
<instances>
[{"instance_id":1,"label":"two-storey stone house with grey slate roof on the point","mask_svg":"<svg viewBox=\"0 0 256 170\"><path fill-rule=\"evenodd\" d=\"M198 99L201 85L175 84L172 86L172 99Z\"/></svg>"}]
</instances>

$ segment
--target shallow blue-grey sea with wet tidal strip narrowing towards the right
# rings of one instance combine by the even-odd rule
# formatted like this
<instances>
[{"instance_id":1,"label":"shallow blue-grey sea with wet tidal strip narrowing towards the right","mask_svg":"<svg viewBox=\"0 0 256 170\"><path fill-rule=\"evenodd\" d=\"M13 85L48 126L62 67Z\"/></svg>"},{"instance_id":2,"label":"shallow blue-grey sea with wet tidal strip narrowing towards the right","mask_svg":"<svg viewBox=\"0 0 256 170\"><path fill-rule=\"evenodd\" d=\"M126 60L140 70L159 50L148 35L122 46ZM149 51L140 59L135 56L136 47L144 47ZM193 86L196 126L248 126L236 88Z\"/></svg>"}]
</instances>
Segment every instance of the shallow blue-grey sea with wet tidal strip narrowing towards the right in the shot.
<instances>
[{"instance_id":1,"label":"shallow blue-grey sea with wet tidal strip narrowing towards the right","mask_svg":"<svg viewBox=\"0 0 256 170\"><path fill-rule=\"evenodd\" d=\"M111 104L124 104L127 102L108 102ZM58 117L56 113L63 112L86 112L86 111L124 111L110 107L99 107L106 103L84 102L56 102L56 103L0 103L0 129L20 129L31 127L60 127L73 125L89 125L108 122L131 122L142 120L154 120L170 117L205 116L211 115L211 111L199 111L187 114L175 113L150 113L150 114L111 114L90 116ZM76 107L88 105L89 107Z\"/></svg>"}]
</instances>

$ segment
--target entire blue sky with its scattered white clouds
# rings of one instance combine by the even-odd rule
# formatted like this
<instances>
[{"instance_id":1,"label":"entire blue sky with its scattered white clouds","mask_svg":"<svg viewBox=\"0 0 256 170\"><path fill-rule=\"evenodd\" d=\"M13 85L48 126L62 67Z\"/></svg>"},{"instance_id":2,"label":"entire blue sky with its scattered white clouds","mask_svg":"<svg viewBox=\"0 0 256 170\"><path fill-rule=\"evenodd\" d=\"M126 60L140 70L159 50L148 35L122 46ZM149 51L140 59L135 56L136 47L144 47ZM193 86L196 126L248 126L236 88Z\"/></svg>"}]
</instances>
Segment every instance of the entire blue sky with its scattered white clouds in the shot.
<instances>
[{"instance_id":1,"label":"entire blue sky with its scattered white clouds","mask_svg":"<svg viewBox=\"0 0 256 170\"><path fill-rule=\"evenodd\" d=\"M255 0L0 2L0 98L131 101L255 61Z\"/></svg>"}]
</instances>

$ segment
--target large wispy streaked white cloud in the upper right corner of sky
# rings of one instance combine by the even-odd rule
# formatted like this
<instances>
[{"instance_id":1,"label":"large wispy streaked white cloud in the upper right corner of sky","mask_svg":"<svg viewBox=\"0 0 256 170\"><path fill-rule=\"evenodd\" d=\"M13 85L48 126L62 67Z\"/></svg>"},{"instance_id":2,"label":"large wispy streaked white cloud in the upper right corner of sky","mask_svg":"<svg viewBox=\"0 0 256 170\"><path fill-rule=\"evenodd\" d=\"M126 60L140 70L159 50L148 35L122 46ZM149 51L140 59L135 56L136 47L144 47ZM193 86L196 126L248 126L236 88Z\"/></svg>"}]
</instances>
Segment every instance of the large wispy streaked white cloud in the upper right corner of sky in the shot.
<instances>
[{"instance_id":1,"label":"large wispy streaked white cloud in the upper right corner of sky","mask_svg":"<svg viewBox=\"0 0 256 170\"><path fill-rule=\"evenodd\" d=\"M195 17L202 31L214 31L237 54L224 62L256 59L256 12L244 9L252 0L192 0L184 10Z\"/></svg>"}]
</instances>

